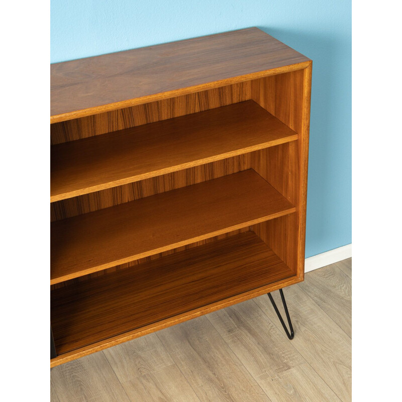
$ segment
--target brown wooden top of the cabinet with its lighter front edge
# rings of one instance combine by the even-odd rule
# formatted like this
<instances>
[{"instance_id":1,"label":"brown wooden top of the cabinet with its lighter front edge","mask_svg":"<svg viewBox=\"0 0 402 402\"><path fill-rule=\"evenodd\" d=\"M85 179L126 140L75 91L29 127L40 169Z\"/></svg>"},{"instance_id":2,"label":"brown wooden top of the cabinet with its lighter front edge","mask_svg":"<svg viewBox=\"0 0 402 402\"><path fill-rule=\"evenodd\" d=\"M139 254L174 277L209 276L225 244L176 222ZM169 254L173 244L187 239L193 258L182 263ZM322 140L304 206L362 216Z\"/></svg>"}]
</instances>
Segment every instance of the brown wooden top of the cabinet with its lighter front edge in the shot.
<instances>
[{"instance_id":1,"label":"brown wooden top of the cabinet with its lighter front edge","mask_svg":"<svg viewBox=\"0 0 402 402\"><path fill-rule=\"evenodd\" d=\"M299 69L304 66L294 65L310 62L258 28L248 28L51 64L50 122L259 78L268 70Z\"/></svg>"}]
</instances>

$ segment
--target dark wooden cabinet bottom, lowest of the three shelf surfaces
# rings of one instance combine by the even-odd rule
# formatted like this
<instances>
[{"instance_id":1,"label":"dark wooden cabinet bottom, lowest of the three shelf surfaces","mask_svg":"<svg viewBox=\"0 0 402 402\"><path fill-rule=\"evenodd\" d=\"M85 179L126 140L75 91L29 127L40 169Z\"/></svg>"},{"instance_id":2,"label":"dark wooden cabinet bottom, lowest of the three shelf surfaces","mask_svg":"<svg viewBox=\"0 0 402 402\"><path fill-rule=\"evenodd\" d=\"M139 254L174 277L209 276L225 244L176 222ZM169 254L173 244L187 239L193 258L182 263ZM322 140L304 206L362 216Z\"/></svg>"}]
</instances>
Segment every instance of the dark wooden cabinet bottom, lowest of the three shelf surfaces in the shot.
<instances>
[{"instance_id":1,"label":"dark wooden cabinet bottom, lowest of the three shelf surfaces","mask_svg":"<svg viewBox=\"0 0 402 402\"><path fill-rule=\"evenodd\" d=\"M51 292L51 323L57 354L107 347L108 339L184 321L183 315L236 303L295 273L253 232L174 253L76 286ZM216 310L216 309L215 309ZM101 342L104 341L104 342ZM104 347L102 347L102 343ZM106 345L106 346L105 346Z\"/></svg>"}]
</instances>

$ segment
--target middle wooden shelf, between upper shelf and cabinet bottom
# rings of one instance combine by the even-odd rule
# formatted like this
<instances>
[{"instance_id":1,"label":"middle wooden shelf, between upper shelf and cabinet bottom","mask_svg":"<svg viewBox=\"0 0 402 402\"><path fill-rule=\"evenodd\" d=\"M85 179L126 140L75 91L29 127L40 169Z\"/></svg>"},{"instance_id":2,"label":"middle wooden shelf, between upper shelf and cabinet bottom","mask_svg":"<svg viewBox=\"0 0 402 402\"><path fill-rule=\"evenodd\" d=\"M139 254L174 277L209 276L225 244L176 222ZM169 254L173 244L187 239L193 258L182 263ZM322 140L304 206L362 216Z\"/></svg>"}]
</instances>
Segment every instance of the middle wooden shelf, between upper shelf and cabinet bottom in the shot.
<instances>
[{"instance_id":1,"label":"middle wooden shelf, between upper shelf and cabinet bottom","mask_svg":"<svg viewBox=\"0 0 402 402\"><path fill-rule=\"evenodd\" d=\"M51 284L295 212L254 170L51 224Z\"/></svg>"}]
</instances>

